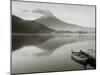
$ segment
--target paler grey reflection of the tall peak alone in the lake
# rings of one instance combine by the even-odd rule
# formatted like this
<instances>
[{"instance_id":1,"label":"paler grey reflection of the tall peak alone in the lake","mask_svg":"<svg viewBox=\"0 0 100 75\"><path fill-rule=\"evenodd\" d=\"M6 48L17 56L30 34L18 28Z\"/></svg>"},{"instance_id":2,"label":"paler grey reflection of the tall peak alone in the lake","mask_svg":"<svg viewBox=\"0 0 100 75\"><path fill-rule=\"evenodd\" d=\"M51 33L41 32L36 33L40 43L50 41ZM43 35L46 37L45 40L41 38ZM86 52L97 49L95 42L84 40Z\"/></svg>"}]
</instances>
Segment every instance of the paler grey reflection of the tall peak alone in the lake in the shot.
<instances>
[{"instance_id":1,"label":"paler grey reflection of the tall peak alone in the lake","mask_svg":"<svg viewBox=\"0 0 100 75\"><path fill-rule=\"evenodd\" d=\"M43 53L36 54L37 56L47 56L52 54L56 48L61 47L65 44L71 44L76 43L79 41L86 41L86 40L92 40L94 37L90 35L56 35L49 40L43 42L39 45L42 50L44 50Z\"/></svg>"}]
</instances>

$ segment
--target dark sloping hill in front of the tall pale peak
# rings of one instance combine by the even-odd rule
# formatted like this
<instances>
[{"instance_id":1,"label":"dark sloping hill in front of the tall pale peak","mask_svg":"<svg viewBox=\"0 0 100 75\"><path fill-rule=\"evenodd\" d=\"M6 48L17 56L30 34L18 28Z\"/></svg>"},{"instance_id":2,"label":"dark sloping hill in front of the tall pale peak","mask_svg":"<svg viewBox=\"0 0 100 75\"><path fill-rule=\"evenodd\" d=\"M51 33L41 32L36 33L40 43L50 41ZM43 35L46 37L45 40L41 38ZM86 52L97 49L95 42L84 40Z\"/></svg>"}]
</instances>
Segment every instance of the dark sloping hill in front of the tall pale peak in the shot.
<instances>
[{"instance_id":1,"label":"dark sloping hill in front of the tall pale peak","mask_svg":"<svg viewBox=\"0 0 100 75\"><path fill-rule=\"evenodd\" d=\"M13 33L44 33L52 32L50 29L41 23L35 21L26 21L15 15L12 15L12 32Z\"/></svg>"}]
</instances>

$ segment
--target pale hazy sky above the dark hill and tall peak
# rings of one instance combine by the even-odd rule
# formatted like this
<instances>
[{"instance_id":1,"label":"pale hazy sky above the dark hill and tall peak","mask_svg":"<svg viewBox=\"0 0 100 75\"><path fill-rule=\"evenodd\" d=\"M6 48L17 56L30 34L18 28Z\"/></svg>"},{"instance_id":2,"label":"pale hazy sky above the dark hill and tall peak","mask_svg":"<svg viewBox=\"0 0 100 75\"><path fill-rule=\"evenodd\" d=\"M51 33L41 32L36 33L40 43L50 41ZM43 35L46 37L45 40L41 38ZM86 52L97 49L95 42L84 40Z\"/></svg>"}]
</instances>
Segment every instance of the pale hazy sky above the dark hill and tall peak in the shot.
<instances>
[{"instance_id":1,"label":"pale hazy sky above the dark hill and tall peak","mask_svg":"<svg viewBox=\"0 0 100 75\"><path fill-rule=\"evenodd\" d=\"M12 14L25 20L34 20L43 16L33 10L49 10L62 21L80 26L95 27L95 7L34 2L12 2Z\"/></svg>"}]
</instances>

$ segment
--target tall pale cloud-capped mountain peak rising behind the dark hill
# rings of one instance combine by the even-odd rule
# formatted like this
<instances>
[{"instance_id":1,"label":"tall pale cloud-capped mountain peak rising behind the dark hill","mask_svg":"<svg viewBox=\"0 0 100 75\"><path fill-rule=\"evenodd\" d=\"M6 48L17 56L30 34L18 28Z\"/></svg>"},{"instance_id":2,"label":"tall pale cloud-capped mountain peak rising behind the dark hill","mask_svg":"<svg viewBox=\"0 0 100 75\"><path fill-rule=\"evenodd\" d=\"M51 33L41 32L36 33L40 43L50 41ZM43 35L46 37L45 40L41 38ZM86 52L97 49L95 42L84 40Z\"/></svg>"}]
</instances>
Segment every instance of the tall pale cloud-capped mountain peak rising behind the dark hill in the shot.
<instances>
[{"instance_id":1,"label":"tall pale cloud-capped mountain peak rising behind the dark hill","mask_svg":"<svg viewBox=\"0 0 100 75\"><path fill-rule=\"evenodd\" d=\"M54 16L53 13L47 10L44 11L44 10L37 9L34 10L33 12L44 15L34 21L41 23L56 31L72 31L72 32L76 32L76 31L94 32L95 31L95 28L82 27L75 24L63 22L62 20Z\"/></svg>"}]
</instances>

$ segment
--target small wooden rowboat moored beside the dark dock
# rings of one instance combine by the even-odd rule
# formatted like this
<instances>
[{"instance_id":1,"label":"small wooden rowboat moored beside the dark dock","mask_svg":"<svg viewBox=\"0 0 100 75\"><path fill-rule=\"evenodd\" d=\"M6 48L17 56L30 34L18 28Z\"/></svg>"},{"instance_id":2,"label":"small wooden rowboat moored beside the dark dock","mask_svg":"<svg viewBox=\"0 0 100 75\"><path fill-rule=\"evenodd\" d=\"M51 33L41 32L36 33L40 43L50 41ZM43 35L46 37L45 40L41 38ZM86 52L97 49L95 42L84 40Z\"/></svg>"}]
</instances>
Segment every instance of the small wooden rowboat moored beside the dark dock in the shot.
<instances>
[{"instance_id":1,"label":"small wooden rowboat moored beside the dark dock","mask_svg":"<svg viewBox=\"0 0 100 75\"><path fill-rule=\"evenodd\" d=\"M75 62L83 65L84 69L86 69L86 66L88 64L88 57L85 56L84 54L82 54L81 51L80 52L73 52L72 51L71 58Z\"/></svg>"}]
</instances>

